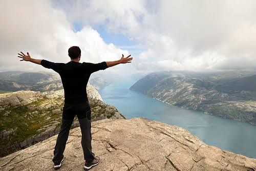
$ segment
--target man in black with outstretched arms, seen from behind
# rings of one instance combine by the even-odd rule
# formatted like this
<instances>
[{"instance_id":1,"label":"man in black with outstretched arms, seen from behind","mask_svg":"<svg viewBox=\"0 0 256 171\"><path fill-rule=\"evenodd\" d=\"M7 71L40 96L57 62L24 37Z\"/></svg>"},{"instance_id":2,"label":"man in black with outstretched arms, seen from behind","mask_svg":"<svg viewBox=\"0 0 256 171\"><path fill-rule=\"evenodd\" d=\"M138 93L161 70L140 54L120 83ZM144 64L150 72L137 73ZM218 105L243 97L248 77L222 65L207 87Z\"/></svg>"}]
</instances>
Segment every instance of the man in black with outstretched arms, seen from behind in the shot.
<instances>
[{"instance_id":1,"label":"man in black with outstretched arms, seen from behind","mask_svg":"<svg viewBox=\"0 0 256 171\"><path fill-rule=\"evenodd\" d=\"M91 106L87 97L87 83L90 75L99 70L113 67L119 63L130 63L133 59L131 55L116 61L103 61L100 63L82 62L80 63L81 50L77 46L72 46L68 50L70 61L68 63L54 63L45 59L33 59L29 53L25 55L23 52L18 53L20 61L30 61L37 63L45 68L54 70L60 75L63 89L65 92L65 103L62 112L62 123L54 148L54 168L58 169L64 160L63 152L65 151L66 142L68 140L70 127L77 115L80 129L82 133L81 145L84 156L84 169L89 170L92 166L99 163L99 157L95 157L92 152L92 134L91 134ZM130 58L129 58L130 57Z\"/></svg>"}]
</instances>

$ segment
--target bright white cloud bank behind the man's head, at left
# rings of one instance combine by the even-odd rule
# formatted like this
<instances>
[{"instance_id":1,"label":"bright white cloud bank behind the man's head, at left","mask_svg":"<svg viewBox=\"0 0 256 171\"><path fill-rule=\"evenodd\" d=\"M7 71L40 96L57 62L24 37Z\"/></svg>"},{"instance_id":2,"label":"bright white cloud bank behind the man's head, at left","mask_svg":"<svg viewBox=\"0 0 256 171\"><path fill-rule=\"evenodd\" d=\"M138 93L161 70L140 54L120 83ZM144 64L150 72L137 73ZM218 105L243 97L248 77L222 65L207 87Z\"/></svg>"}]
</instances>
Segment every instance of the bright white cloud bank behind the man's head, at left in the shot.
<instances>
[{"instance_id":1,"label":"bright white cloud bank behind the man's head, at left","mask_svg":"<svg viewBox=\"0 0 256 171\"><path fill-rule=\"evenodd\" d=\"M33 58L54 62L68 62L68 48L79 46L81 61L101 62L117 60L126 50L106 44L99 33L87 25L74 32L63 10L50 1L6 1L0 15L0 70L49 71L27 61L19 61L17 53L29 52ZM117 72L110 68L108 72Z\"/></svg>"}]
</instances>

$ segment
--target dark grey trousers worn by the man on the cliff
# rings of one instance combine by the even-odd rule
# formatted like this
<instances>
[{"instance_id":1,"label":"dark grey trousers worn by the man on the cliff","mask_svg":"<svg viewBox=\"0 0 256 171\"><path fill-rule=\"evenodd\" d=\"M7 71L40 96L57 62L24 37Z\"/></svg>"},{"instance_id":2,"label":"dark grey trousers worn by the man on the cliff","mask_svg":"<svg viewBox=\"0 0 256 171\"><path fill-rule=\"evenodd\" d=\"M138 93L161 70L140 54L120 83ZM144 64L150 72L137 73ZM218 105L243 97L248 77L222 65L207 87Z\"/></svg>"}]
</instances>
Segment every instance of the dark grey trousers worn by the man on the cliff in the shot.
<instances>
[{"instance_id":1,"label":"dark grey trousers worn by the man on the cliff","mask_svg":"<svg viewBox=\"0 0 256 171\"><path fill-rule=\"evenodd\" d=\"M90 107L90 106L89 106ZM86 161L92 161L95 154L92 152L92 134L91 134L91 108L88 105L70 105L65 104L63 107L62 123L53 151L54 163L59 163L63 158L66 142L69 137L70 127L73 123L75 113L80 124L82 133L81 145L83 149L83 157ZM70 114L70 115L69 115ZM90 116L88 116L90 114Z\"/></svg>"}]
</instances>

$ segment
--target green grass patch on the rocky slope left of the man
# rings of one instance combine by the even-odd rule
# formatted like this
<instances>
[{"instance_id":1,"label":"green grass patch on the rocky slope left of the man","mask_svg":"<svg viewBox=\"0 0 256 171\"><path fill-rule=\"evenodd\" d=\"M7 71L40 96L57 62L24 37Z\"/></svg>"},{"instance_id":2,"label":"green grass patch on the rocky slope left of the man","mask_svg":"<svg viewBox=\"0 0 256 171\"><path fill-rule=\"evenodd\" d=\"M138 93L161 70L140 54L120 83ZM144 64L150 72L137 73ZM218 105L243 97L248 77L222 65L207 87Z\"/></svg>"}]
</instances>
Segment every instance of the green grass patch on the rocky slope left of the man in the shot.
<instances>
[{"instance_id":1,"label":"green grass patch on the rocky slope left of the man","mask_svg":"<svg viewBox=\"0 0 256 171\"><path fill-rule=\"evenodd\" d=\"M50 124L53 120L61 120L61 113L52 114L51 109L41 110L37 108L37 106L48 100L49 98L43 97L27 105L8 106L0 112L0 131L8 131L17 127L17 130L10 134L10 141L12 143L22 142L31 136L40 134L44 130L37 131L38 129ZM36 108L33 110L31 109L32 106ZM33 113L36 111L37 113ZM48 117L50 119L46 119Z\"/></svg>"}]
</instances>

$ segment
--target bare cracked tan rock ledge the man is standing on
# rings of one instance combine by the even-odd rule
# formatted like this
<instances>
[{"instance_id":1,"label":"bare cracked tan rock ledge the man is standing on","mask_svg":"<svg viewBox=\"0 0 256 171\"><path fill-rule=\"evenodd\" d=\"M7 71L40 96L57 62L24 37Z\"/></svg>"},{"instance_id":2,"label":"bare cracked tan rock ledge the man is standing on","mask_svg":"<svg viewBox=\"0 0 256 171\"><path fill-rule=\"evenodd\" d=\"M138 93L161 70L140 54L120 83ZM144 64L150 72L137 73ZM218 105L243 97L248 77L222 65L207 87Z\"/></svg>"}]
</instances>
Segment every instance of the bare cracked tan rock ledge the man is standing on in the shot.
<instances>
[{"instance_id":1,"label":"bare cracked tan rock ledge the man is standing on","mask_svg":"<svg viewBox=\"0 0 256 171\"><path fill-rule=\"evenodd\" d=\"M0 158L2 170L54 170L57 135ZM256 169L256 159L223 151L181 127L144 118L92 122L92 147L100 163L91 170L232 170ZM83 170L79 127L72 129L60 170Z\"/></svg>"}]
</instances>

